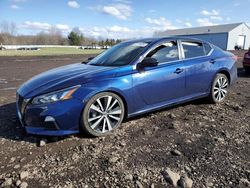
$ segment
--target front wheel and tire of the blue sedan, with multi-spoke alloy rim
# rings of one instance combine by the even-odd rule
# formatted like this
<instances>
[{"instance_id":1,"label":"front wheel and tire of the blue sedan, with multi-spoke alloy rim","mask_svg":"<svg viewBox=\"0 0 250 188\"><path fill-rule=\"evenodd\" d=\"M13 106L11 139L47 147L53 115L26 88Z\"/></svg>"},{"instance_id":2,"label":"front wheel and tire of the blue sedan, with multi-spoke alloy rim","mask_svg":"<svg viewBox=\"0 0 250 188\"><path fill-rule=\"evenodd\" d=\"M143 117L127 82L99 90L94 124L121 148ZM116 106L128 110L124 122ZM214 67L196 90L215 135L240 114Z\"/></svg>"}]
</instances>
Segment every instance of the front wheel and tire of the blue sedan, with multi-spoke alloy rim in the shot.
<instances>
[{"instance_id":1,"label":"front wheel and tire of the blue sedan, with multi-spoke alloy rim","mask_svg":"<svg viewBox=\"0 0 250 188\"><path fill-rule=\"evenodd\" d=\"M122 124L124 114L124 104L118 95L98 93L87 102L80 126L91 136L106 136Z\"/></svg>"}]
</instances>

